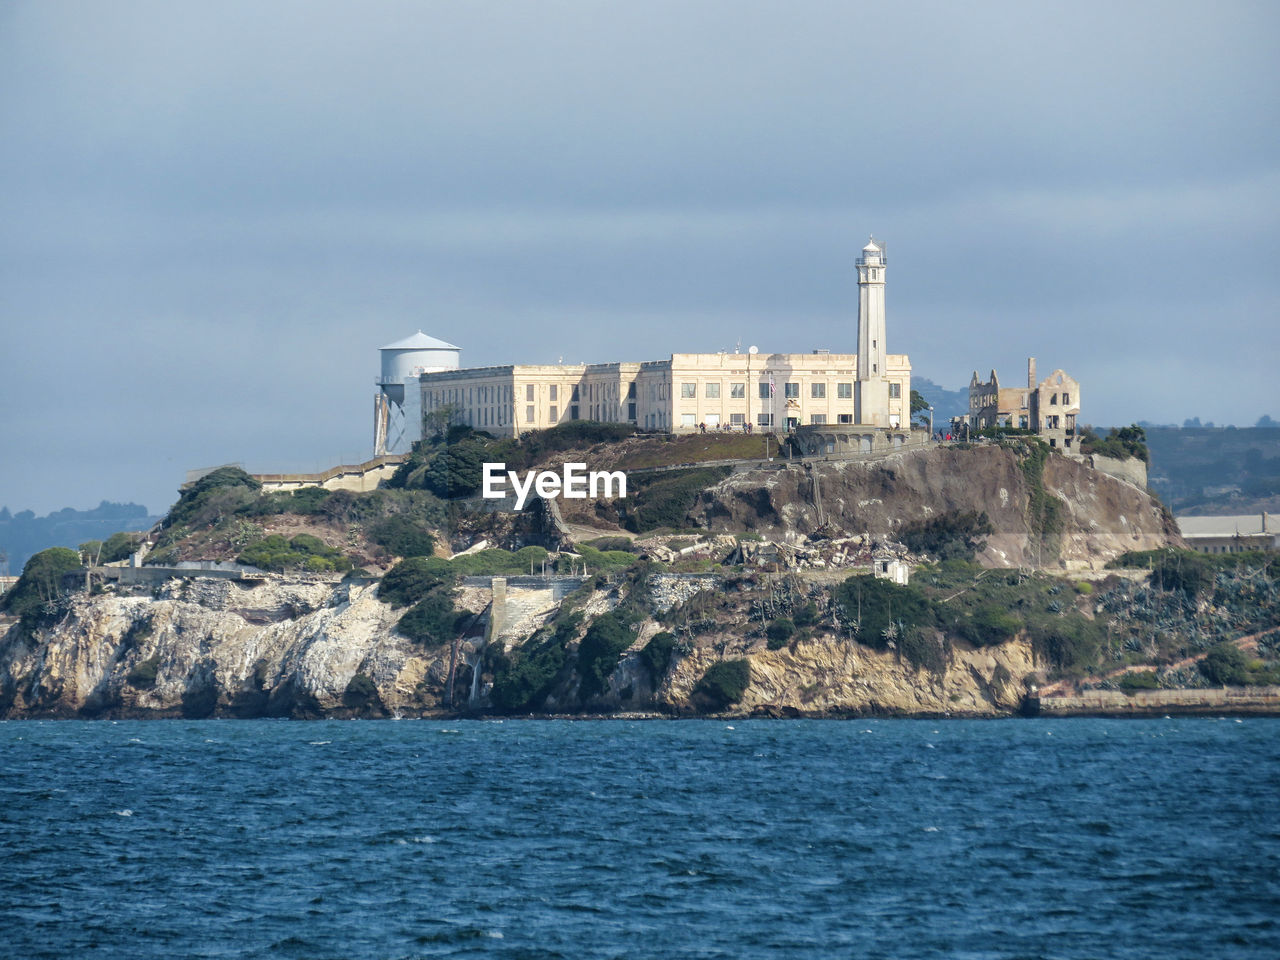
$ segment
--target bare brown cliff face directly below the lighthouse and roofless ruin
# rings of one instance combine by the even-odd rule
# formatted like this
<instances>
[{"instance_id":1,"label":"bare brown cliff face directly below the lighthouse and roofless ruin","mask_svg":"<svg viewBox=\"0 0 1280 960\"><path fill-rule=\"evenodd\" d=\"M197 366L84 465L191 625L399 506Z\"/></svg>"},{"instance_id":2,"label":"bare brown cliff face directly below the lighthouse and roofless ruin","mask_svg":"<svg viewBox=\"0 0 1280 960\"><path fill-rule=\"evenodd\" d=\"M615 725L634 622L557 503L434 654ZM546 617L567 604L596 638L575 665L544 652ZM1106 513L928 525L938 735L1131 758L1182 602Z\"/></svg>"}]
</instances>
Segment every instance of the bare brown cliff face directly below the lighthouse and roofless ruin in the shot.
<instances>
[{"instance_id":1,"label":"bare brown cliff face directly below the lighthouse and roofless ruin","mask_svg":"<svg viewBox=\"0 0 1280 960\"><path fill-rule=\"evenodd\" d=\"M707 490L694 516L712 530L785 539L840 527L896 539L905 524L986 512L989 566L1102 567L1125 550L1179 544L1160 503L1088 463L1050 456L1039 476L1016 451L941 447L863 462L812 462L735 474ZM1050 498L1044 524L1033 502Z\"/></svg>"}]
</instances>

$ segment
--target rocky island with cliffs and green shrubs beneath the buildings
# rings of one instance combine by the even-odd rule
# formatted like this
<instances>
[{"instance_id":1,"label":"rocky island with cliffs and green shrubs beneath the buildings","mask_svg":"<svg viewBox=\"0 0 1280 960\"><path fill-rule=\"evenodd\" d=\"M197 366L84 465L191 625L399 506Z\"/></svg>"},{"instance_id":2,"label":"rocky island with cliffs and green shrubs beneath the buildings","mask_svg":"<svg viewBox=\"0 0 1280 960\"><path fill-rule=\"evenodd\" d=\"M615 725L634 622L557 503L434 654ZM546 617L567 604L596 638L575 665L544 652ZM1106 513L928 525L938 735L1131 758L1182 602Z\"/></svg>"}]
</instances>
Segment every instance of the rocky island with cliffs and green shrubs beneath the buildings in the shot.
<instances>
[{"instance_id":1,"label":"rocky island with cliffs and green shrubs beneath the buildings","mask_svg":"<svg viewBox=\"0 0 1280 960\"><path fill-rule=\"evenodd\" d=\"M1275 558L1179 549L1140 463L630 433L454 429L367 493L214 471L129 559L32 558L0 716L1276 709ZM570 460L628 497L476 497Z\"/></svg>"}]
</instances>

